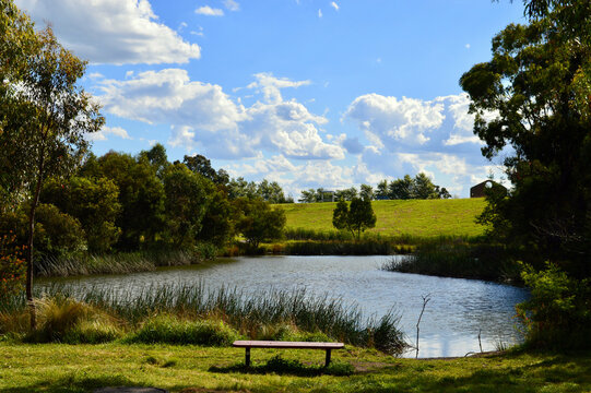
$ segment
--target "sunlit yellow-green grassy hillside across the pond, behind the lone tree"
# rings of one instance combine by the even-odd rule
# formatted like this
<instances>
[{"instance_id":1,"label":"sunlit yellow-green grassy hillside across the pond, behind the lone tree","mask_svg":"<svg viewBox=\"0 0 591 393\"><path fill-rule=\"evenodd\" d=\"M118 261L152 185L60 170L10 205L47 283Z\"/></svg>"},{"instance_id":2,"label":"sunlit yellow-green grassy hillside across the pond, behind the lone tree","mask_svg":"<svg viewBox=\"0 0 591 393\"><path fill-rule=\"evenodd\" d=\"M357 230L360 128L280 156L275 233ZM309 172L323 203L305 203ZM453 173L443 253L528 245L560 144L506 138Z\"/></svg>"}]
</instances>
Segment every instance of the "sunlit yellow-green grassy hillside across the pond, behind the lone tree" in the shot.
<instances>
[{"instance_id":1,"label":"sunlit yellow-green grassy hillside across the pond, behind the lone tree","mask_svg":"<svg viewBox=\"0 0 591 393\"><path fill-rule=\"evenodd\" d=\"M281 204L287 228L335 230L332 211L335 202ZM482 198L452 200L374 201L376 227L368 233L416 237L478 236L484 228L474 219L483 211Z\"/></svg>"}]
</instances>

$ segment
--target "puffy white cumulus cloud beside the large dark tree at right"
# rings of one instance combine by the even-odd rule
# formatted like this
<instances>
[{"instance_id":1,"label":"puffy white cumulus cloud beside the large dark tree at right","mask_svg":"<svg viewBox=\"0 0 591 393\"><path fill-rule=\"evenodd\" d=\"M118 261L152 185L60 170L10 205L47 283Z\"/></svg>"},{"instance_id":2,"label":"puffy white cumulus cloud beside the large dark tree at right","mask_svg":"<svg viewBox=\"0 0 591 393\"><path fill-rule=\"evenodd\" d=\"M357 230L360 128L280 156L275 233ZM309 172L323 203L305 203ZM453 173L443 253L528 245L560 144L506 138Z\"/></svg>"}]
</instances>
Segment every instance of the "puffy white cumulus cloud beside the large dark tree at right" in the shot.
<instances>
[{"instance_id":1,"label":"puffy white cumulus cloud beside the large dark tree at right","mask_svg":"<svg viewBox=\"0 0 591 393\"><path fill-rule=\"evenodd\" d=\"M423 171L458 193L466 192L475 179L486 178L492 167L498 175L501 170L486 165L481 155L482 141L472 132L474 116L468 112L469 106L465 94L433 100L378 94L357 97L344 115L369 142L357 168L385 178Z\"/></svg>"}]
</instances>

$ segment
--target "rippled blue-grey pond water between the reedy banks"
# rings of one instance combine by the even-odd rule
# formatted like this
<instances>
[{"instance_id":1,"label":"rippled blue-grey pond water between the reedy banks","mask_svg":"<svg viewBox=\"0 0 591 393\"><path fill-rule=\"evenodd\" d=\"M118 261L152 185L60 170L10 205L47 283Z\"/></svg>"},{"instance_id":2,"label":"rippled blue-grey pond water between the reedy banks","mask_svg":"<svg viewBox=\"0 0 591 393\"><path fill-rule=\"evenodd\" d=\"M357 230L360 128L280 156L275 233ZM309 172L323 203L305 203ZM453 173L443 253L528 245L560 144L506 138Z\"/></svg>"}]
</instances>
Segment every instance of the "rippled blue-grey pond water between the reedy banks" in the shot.
<instances>
[{"instance_id":1,"label":"rippled blue-grey pond water between the reedy banks","mask_svg":"<svg viewBox=\"0 0 591 393\"><path fill-rule=\"evenodd\" d=\"M430 295L421 320L419 357L464 356L494 350L498 343L521 340L516 329L515 305L528 291L495 283L402 274L381 271L391 258L405 257L261 257L222 259L214 263L161 269L129 275L64 279L76 287L105 287L114 293L150 285L186 285L202 282L208 288L237 287L245 294L270 288L306 288L328 295L345 306L357 305L364 314L378 318L392 307L401 314L406 340L416 340L423 296ZM406 356L414 357L415 353Z\"/></svg>"}]
</instances>

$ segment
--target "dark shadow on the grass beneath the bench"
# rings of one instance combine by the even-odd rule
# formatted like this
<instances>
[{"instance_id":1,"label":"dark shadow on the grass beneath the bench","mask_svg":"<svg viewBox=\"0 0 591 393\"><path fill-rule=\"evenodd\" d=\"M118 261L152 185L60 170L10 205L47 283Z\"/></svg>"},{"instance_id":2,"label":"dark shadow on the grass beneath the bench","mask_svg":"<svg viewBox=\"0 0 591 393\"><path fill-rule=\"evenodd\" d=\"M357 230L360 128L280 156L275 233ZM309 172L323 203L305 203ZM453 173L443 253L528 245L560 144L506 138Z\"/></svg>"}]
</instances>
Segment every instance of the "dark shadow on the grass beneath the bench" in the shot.
<instances>
[{"instance_id":1,"label":"dark shadow on the grass beneath the bench","mask_svg":"<svg viewBox=\"0 0 591 393\"><path fill-rule=\"evenodd\" d=\"M249 366L246 367L245 364L240 362L227 367L217 367L213 366L209 369L210 372L240 372L240 373L252 373L252 374L265 374L265 373L276 373L283 376L296 376L296 377L318 377L318 376L333 376L333 377L344 377L351 376L355 371L355 368L341 361L333 361L329 367L323 366L304 366L299 360L288 360L284 359L281 356L275 356L265 365L261 366Z\"/></svg>"}]
</instances>

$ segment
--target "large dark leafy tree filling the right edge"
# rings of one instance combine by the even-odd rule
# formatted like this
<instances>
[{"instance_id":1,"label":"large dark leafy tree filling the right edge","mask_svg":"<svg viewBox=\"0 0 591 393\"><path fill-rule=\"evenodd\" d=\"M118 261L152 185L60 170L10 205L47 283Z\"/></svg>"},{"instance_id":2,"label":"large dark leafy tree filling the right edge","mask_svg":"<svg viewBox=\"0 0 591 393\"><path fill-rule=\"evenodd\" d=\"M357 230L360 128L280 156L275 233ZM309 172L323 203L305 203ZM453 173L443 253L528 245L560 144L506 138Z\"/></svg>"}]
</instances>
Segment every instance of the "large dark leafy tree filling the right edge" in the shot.
<instances>
[{"instance_id":1,"label":"large dark leafy tree filling the right edge","mask_svg":"<svg viewBox=\"0 0 591 393\"><path fill-rule=\"evenodd\" d=\"M591 275L591 5L527 1L528 25L493 39L493 58L462 75L483 155L506 155L513 190L483 223L528 258ZM506 147L511 148L507 153ZM568 262L567 262L568 261Z\"/></svg>"}]
</instances>

